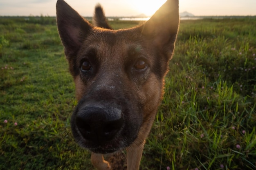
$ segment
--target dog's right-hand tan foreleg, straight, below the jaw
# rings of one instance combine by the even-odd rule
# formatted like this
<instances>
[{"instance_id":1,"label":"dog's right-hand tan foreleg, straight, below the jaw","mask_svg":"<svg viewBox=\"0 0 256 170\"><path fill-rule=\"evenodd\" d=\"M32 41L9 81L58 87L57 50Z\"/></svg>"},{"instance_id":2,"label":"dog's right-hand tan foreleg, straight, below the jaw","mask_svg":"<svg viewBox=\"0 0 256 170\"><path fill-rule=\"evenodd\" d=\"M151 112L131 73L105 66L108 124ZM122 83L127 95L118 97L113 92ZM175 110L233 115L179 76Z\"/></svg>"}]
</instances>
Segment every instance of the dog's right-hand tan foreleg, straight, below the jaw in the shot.
<instances>
[{"instance_id":1,"label":"dog's right-hand tan foreleg, straight, below the jaw","mask_svg":"<svg viewBox=\"0 0 256 170\"><path fill-rule=\"evenodd\" d=\"M127 170L139 170L140 159L142 156L145 142L137 145L133 143L126 148L127 151Z\"/></svg>"}]
</instances>

